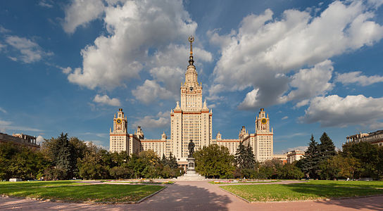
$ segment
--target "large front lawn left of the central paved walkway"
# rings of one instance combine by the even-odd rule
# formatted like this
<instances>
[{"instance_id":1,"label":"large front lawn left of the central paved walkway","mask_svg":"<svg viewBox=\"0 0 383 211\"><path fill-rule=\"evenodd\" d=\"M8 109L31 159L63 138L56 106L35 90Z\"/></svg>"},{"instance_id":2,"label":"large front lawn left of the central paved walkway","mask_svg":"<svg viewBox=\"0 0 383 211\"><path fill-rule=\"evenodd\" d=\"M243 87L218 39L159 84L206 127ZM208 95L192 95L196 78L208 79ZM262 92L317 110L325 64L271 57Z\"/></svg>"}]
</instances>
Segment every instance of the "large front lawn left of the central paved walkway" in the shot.
<instances>
[{"instance_id":1,"label":"large front lawn left of the central paved walkway","mask_svg":"<svg viewBox=\"0 0 383 211\"><path fill-rule=\"evenodd\" d=\"M162 188L164 187L153 185L96 184L87 186L0 188L0 194L56 200L130 202L138 201Z\"/></svg>"}]
</instances>

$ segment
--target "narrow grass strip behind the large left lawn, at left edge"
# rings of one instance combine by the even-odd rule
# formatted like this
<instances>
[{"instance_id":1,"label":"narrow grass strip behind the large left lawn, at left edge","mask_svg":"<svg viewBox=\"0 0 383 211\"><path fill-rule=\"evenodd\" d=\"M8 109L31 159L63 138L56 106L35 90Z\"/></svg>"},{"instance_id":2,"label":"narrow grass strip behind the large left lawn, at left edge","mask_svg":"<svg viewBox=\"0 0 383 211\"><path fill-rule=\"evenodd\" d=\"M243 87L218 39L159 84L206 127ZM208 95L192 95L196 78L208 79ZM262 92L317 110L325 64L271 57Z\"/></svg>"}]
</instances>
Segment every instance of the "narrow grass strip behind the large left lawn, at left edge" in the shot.
<instances>
[{"instance_id":1,"label":"narrow grass strip behind the large left lawn, at left edge","mask_svg":"<svg viewBox=\"0 0 383 211\"><path fill-rule=\"evenodd\" d=\"M61 181L0 181L0 189L4 188L32 188L41 186L73 186L84 183L74 182L73 180Z\"/></svg>"}]
</instances>

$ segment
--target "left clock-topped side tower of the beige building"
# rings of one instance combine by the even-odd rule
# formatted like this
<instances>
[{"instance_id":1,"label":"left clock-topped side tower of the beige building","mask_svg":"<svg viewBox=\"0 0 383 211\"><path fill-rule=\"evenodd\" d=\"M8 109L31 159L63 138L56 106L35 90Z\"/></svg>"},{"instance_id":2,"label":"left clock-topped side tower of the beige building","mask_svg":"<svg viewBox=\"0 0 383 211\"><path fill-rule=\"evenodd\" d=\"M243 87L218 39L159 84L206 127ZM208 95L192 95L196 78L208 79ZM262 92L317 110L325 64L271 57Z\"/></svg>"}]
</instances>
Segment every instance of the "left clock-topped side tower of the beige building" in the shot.
<instances>
[{"instance_id":1,"label":"left clock-topped side tower of the beige building","mask_svg":"<svg viewBox=\"0 0 383 211\"><path fill-rule=\"evenodd\" d=\"M118 109L117 117L113 118L113 131L109 129L109 151L120 152L130 151L129 134L127 134L127 117L123 113L123 108Z\"/></svg>"}]
</instances>

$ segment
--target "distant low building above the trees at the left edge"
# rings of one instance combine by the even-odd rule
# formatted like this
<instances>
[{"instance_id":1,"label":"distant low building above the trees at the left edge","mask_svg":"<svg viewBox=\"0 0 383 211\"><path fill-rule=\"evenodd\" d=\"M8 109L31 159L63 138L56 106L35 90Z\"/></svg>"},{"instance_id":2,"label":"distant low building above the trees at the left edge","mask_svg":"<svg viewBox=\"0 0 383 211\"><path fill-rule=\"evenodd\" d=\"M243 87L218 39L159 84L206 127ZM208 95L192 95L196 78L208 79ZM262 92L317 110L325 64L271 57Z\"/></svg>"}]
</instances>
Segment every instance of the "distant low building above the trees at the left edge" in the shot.
<instances>
[{"instance_id":1,"label":"distant low building above the trees at the left edge","mask_svg":"<svg viewBox=\"0 0 383 211\"><path fill-rule=\"evenodd\" d=\"M40 145L36 143L36 136L29 136L26 134L3 134L0 133L0 143L13 143L20 146L27 146L28 148L39 150Z\"/></svg>"}]
</instances>

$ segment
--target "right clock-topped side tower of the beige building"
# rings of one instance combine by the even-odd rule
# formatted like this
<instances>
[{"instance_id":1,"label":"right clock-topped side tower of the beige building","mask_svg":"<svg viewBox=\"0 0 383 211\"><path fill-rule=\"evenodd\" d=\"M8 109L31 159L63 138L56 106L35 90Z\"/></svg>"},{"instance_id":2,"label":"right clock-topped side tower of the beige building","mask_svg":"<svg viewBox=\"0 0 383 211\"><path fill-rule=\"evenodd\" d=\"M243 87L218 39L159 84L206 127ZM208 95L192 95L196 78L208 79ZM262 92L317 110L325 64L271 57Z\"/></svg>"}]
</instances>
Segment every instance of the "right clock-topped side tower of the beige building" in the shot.
<instances>
[{"instance_id":1,"label":"right clock-topped side tower of the beige building","mask_svg":"<svg viewBox=\"0 0 383 211\"><path fill-rule=\"evenodd\" d=\"M254 157L258 162L272 160L273 157L273 130L270 131L269 115L265 114L265 109L260 108L256 117L256 134L254 144Z\"/></svg>"}]
</instances>

